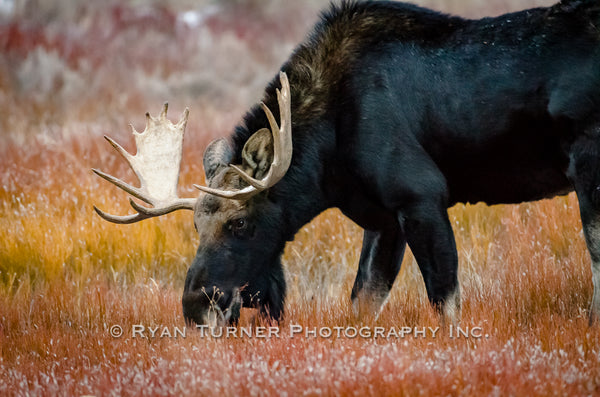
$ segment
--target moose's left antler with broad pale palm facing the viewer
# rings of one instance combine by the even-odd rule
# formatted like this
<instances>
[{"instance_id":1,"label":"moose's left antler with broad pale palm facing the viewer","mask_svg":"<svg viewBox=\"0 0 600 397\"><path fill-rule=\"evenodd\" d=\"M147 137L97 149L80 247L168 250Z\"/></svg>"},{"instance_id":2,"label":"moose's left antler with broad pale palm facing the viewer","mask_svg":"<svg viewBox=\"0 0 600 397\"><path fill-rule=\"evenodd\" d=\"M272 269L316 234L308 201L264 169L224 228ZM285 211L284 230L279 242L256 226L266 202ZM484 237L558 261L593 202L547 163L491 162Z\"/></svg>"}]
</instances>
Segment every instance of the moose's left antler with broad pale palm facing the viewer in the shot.
<instances>
[{"instance_id":1,"label":"moose's left antler with broad pale palm facing the viewer","mask_svg":"<svg viewBox=\"0 0 600 397\"><path fill-rule=\"evenodd\" d=\"M108 214L94 206L98 215L103 219L113 223L134 223L180 209L194 209L197 199L177 196L183 134L189 110L185 109L179 122L173 125L167 119L167 109L168 104L165 103L157 118L146 113L146 128L142 133L138 133L132 126L137 146L135 156L128 153L113 139L105 136L106 140L123 156L135 172L141 186L139 188L132 186L97 169L92 169L92 171L132 196L152 205L153 208L142 206L130 199L129 202L137 213L118 216Z\"/></svg>"}]
</instances>

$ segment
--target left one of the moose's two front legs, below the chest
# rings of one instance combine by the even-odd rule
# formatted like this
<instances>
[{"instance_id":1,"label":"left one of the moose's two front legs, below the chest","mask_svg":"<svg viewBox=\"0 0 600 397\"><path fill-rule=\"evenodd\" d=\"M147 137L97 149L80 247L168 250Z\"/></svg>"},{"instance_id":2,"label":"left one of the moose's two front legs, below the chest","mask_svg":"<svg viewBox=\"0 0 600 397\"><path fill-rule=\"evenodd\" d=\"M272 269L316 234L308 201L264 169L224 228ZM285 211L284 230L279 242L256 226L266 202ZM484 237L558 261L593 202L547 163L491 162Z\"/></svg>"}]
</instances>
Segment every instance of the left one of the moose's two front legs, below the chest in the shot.
<instances>
[{"instance_id":1,"label":"left one of the moose's two front legs, below the chest","mask_svg":"<svg viewBox=\"0 0 600 397\"><path fill-rule=\"evenodd\" d=\"M399 226L386 231L365 229L352 287L352 307L357 315L379 315L400 271L405 247L406 239Z\"/></svg>"}]
</instances>

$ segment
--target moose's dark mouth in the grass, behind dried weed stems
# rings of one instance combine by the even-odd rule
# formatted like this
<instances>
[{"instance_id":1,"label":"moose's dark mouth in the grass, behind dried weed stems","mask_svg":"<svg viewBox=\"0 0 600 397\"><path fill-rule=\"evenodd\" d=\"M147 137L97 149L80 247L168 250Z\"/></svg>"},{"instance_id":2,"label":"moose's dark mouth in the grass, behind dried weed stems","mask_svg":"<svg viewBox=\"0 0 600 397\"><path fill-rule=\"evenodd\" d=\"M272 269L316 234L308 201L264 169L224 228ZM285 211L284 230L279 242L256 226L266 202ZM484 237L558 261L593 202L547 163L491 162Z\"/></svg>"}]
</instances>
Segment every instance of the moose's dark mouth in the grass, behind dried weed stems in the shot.
<instances>
[{"instance_id":1,"label":"moose's dark mouth in the grass, behind dried weed stems","mask_svg":"<svg viewBox=\"0 0 600 397\"><path fill-rule=\"evenodd\" d=\"M186 323L209 328L237 324L243 300L239 288L230 294L212 294L205 291L183 295L183 315Z\"/></svg>"}]
</instances>

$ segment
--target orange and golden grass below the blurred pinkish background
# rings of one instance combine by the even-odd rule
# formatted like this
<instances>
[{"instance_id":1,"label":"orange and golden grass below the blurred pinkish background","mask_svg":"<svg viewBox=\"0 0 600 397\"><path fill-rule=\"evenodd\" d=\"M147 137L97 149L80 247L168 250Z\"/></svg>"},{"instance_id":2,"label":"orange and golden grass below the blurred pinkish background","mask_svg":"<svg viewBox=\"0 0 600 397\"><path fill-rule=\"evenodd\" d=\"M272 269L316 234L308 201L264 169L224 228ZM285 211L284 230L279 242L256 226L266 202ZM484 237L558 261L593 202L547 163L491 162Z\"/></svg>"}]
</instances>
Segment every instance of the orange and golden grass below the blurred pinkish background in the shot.
<instances>
[{"instance_id":1,"label":"orange and golden grass below the blurred pinkish background","mask_svg":"<svg viewBox=\"0 0 600 397\"><path fill-rule=\"evenodd\" d=\"M132 337L133 325L171 333L185 326L180 296L197 237L190 213L131 226L101 221L93 204L128 211L125 194L89 172L102 164L127 175L108 149L95 136L3 153L12 172L0 192L2 394L598 393L600 338L587 326L590 263L573 194L450 209L461 326L487 337L290 337L292 325L439 326L410 252L380 318L354 316L349 294L362 232L332 210L286 247L280 338L142 339ZM188 186L201 179L189 153L196 149L184 156ZM244 310L241 325L255 325L253 317ZM122 337L111 336L114 325Z\"/></svg>"}]
</instances>

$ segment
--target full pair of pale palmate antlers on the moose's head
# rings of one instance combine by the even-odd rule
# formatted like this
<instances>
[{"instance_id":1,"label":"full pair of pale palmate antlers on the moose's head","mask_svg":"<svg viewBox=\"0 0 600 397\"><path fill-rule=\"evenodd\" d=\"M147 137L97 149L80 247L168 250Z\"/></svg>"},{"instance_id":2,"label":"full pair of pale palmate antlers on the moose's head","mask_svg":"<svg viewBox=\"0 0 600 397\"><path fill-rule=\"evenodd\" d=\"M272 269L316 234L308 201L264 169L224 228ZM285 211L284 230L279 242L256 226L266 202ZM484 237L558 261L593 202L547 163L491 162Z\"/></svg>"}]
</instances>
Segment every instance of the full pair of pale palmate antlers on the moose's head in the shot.
<instances>
[{"instance_id":1,"label":"full pair of pale palmate antlers on the moose's head","mask_svg":"<svg viewBox=\"0 0 600 397\"><path fill-rule=\"evenodd\" d=\"M220 190L205 186L194 185L205 193L219 197L247 200L275 185L287 172L292 162L292 122L291 122L291 95L290 85L284 72L279 74L281 91L277 90L281 127L277 125L275 117L263 103L262 108L267 115L273 134L273 162L267 175L263 179L254 179L238 166L230 167L250 186L241 190ZM105 136L106 140L127 160L141 186L134 187L122 180L108 175L100 170L92 169L97 175L125 190L132 196L152 205L145 207L129 199L129 203L137 211L136 214L118 216L107 214L94 206L102 218L113 223L134 223L143 219L168 214L180 209L193 210L197 198L179 198L177 196L177 181L183 149L183 134L188 119L188 109L181 115L177 124L167 119L168 105L165 103L163 111L158 118L146 113L146 128L138 133L133 127L133 135L137 147L135 156L129 154L118 143Z\"/></svg>"}]
</instances>

